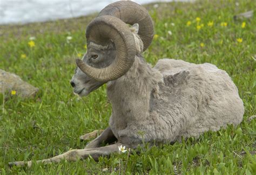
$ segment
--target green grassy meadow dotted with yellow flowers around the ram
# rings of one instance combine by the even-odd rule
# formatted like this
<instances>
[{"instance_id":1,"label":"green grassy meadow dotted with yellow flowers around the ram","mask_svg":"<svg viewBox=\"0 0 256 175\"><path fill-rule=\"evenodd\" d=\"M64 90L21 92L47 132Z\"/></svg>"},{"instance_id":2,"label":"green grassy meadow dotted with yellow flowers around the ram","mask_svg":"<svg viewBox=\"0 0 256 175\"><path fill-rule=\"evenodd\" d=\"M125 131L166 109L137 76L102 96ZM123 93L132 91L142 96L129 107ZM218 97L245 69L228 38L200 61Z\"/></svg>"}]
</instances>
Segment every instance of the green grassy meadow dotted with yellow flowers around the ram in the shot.
<instances>
[{"instance_id":1,"label":"green grassy meadow dotted with yellow flowers around the ram","mask_svg":"<svg viewBox=\"0 0 256 175\"><path fill-rule=\"evenodd\" d=\"M116 153L98 163L87 158L52 165L35 164L30 169L10 169L7 165L15 160L44 159L83 148L86 143L79 141L80 135L107 127L111 104L105 86L80 99L73 95L69 85L75 59L85 52L86 24L96 15L0 26L0 68L20 75L40 89L35 99L24 100L6 92L4 100L0 95L0 173L119 173L121 160L122 172L127 162L126 174L255 174L256 120L247 119L255 115L256 17L255 12L251 19L234 20L233 15L256 9L256 2L238 3L164 3L158 8L147 5L156 35L144 57L152 65L160 58L176 58L197 64L210 62L224 69L244 101L242 123L206 132L199 139L141 149L140 154L132 151L129 158L127 153ZM213 25L208 26L208 22ZM69 43L68 36L72 37ZM35 47L28 45L30 37L36 37Z\"/></svg>"}]
</instances>

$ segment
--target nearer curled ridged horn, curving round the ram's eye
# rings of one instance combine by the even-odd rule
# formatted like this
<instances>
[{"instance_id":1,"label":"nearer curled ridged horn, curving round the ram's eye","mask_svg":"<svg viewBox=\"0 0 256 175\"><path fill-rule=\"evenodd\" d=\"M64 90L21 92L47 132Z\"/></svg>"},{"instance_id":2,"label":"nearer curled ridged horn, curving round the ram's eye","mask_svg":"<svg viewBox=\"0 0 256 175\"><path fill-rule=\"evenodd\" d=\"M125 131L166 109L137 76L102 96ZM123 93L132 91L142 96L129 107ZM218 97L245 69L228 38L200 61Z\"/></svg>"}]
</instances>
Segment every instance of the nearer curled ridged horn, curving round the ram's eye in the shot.
<instances>
[{"instance_id":1,"label":"nearer curled ridged horn, curving round the ram's eye","mask_svg":"<svg viewBox=\"0 0 256 175\"><path fill-rule=\"evenodd\" d=\"M91 78L107 82L118 79L132 66L136 55L135 41L129 27L114 16L99 16L91 21L86 29L87 44L90 42L106 45L110 39L116 46L117 54L113 63L105 68L91 67L77 59L77 66Z\"/></svg>"}]
</instances>

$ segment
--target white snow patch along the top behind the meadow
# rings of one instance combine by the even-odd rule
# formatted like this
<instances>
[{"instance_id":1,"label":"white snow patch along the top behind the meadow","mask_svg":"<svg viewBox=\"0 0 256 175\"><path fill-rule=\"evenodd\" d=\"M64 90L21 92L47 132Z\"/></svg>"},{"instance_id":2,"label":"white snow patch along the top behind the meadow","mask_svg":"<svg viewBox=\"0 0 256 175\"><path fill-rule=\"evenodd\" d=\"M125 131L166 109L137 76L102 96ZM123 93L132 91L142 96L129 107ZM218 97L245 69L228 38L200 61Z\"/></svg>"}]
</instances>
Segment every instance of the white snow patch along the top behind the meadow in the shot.
<instances>
[{"instance_id":1,"label":"white snow patch along the top behind the meadow","mask_svg":"<svg viewBox=\"0 0 256 175\"><path fill-rule=\"evenodd\" d=\"M135 0L138 4L173 0ZM180 0L190 2L190 0ZM25 24L85 16L116 0L0 0L0 24Z\"/></svg>"}]
</instances>

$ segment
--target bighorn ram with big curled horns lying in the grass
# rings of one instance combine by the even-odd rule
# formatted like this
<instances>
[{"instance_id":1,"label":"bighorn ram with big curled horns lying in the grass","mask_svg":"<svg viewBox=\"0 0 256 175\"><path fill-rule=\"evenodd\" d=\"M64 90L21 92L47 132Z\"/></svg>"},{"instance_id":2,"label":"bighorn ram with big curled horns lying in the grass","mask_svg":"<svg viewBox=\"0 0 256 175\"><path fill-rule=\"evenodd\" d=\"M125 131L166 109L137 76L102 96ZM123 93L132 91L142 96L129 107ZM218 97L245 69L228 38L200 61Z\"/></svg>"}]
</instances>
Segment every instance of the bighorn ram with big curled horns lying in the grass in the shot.
<instances>
[{"instance_id":1,"label":"bighorn ram with big curled horns lying in the grass","mask_svg":"<svg viewBox=\"0 0 256 175\"><path fill-rule=\"evenodd\" d=\"M86 38L87 52L76 60L71 85L76 94L86 96L107 83L112 103L109 128L85 149L37 162L89 155L97 160L118 151L119 145L134 149L143 139L151 145L171 143L242 121L242 100L225 71L174 59L161 59L154 67L147 64L142 52L151 44L153 25L142 6L134 2L106 6L87 26ZM103 142L109 145L100 147ZM25 164L32 162L10 163Z\"/></svg>"}]
</instances>

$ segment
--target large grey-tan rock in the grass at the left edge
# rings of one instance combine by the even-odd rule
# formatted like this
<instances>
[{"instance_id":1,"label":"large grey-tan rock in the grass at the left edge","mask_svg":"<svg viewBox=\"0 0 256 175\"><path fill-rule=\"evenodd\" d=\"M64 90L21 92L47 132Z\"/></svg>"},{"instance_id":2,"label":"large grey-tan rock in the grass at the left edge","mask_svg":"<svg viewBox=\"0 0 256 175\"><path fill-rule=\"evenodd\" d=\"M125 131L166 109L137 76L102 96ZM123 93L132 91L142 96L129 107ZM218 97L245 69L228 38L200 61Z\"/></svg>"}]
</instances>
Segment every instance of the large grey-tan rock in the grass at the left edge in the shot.
<instances>
[{"instance_id":1,"label":"large grey-tan rock in the grass at the left edge","mask_svg":"<svg viewBox=\"0 0 256 175\"><path fill-rule=\"evenodd\" d=\"M38 90L38 88L23 81L18 75L0 69L0 93L9 92L12 95L33 97Z\"/></svg>"}]
</instances>

